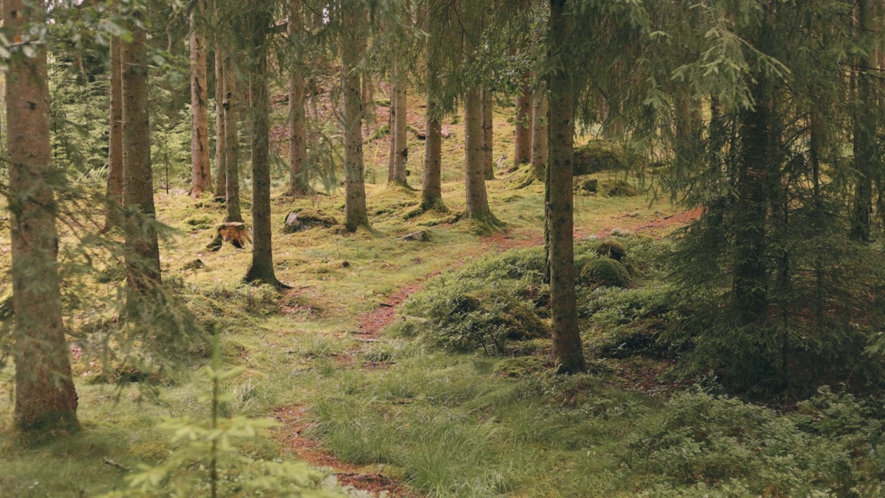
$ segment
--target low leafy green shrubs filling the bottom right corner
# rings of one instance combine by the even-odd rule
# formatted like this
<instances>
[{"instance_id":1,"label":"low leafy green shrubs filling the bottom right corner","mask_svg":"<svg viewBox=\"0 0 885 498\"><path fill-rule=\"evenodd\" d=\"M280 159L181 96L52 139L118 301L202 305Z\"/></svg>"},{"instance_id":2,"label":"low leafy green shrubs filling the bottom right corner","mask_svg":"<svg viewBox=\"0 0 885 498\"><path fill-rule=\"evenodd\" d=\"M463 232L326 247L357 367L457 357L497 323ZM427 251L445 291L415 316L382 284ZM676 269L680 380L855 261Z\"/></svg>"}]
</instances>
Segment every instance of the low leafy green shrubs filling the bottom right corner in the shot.
<instances>
[{"instance_id":1,"label":"low leafy green shrubs filling the bottom right corner","mask_svg":"<svg viewBox=\"0 0 885 498\"><path fill-rule=\"evenodd\" d=\"M631 469L660 476L651 482L661 490L689 485L722 495L740 489L753 495L874 496L883 490L876 453L885 433L881 421L868 415L866 403L827 389L789 416L682 393L630 438L624 458Z\"/></svg>"}]
</instances>

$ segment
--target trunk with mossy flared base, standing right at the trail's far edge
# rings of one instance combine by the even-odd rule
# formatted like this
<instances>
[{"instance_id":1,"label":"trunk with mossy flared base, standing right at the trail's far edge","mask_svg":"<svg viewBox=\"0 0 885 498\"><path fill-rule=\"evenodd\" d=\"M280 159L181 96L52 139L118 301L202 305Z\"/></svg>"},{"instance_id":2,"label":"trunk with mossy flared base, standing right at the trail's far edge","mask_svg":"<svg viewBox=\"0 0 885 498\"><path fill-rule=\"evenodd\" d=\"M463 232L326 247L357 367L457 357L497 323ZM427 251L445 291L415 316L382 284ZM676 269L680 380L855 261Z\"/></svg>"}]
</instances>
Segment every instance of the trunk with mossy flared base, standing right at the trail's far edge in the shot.
<instances>
[{"instance_id":1,"label":"trunk with mossy flared base, standing right at the trail's far edge","mask_svg":"<svg viewBox=\"0 0 885 498\"><path fill-rule=\"evenodd\" d=\"M486 195L485 170L482 164L482 98L481 90L469 89L464 97L464 148L467 218L488 222L491 216Z\"/></svg>"}]
</instances>

